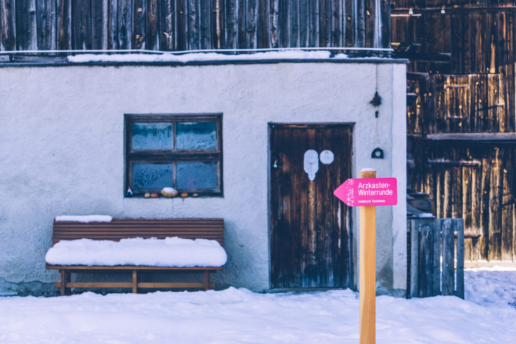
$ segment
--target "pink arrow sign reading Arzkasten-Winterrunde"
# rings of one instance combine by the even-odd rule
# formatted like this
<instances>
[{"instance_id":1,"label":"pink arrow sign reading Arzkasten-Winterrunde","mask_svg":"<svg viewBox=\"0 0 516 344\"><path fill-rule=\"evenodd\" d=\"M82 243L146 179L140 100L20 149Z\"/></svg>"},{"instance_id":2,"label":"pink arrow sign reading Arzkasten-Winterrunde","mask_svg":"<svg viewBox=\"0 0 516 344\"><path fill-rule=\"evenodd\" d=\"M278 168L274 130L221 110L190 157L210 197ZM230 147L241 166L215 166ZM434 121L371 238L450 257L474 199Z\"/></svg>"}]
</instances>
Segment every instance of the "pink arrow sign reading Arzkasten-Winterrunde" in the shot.
<instances>
[{"instance_id":1,"label":"pink arrow sign reading Arzkasten-Winterrunde","mask_svg":"<svg viewBox=\"0 0 516 344\"><path fill-rule=\"evenodd\" d=\"M350 207L398 204L396 178L349 178L333 194Z\"/></svg>"}]
</instances>

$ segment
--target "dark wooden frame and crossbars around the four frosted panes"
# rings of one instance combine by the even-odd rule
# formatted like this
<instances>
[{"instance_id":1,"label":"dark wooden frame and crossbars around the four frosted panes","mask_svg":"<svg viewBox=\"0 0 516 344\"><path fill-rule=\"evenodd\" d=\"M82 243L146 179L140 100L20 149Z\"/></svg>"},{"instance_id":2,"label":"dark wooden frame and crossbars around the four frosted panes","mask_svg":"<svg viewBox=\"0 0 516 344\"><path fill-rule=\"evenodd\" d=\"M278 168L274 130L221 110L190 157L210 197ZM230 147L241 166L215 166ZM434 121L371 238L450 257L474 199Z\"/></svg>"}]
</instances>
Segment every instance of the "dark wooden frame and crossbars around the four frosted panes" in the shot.
<instances>
[{"instance_id":1,"label":"dark wooden frame and crossbars around the four frosted panes","mask_svg":"<svg viewBox=\"0 0 516 344\"><path fill-rule=\"evenodd\" d=\"M133 123L152 123L152 122L170 122L173 126L174 149L172 150L138 150L132 149ZM183 149L178 150L176 147L176 123L178 122L216 122L217 123L217 148L216 149ZM217 162L217 185L216 189L177 189L175 163L177 161L216 161ZM133 163L150 162L150 163L173 163L173 187L179 193L187 192L198 193L199 196L223 196L222 189L222 114L126 114L125 115L125 188L131 187L133 190ZM160 190L133 190L134 196L142 196L146 192L156 192ZM159 194L160 195L160 194Z\"/></svg>"}]
</instances>

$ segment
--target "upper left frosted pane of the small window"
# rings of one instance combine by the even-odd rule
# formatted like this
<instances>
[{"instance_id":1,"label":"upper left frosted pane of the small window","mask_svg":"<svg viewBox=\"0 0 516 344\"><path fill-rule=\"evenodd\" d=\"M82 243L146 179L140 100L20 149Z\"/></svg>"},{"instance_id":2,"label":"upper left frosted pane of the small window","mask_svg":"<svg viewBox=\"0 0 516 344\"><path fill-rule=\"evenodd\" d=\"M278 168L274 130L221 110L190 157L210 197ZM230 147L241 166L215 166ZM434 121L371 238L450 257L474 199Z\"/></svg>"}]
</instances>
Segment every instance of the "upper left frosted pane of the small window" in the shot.
<instances>
[{"instance_id":1,"label":"upper left frosted pane of the small window","mask_svg":"<svg viewBox=\"0 0 516 344\"><path fill-rule=\"evenodd\" d=\"M172 123L133 123L133 151L173 148Z\"/></svg>"}]
</instances>

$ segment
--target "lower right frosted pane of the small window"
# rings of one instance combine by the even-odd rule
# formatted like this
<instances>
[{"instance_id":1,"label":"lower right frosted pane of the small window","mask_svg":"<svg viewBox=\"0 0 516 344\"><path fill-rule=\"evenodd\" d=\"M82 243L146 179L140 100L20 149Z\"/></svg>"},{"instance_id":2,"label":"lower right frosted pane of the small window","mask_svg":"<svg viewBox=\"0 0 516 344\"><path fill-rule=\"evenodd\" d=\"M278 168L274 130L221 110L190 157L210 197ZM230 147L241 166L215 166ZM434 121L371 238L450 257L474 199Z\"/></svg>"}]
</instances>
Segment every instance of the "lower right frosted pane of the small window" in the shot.
<instances>
[{"instance_id":1,"label":"lower right frosted pane of the small window","mask_svg":"<svg viewBox=\"0 0 516 344\"><path fill-rule=\"evenodd\" d=\"M217 162L176 162L178 189L216 189Z\"/></svg>"}]
</instances>

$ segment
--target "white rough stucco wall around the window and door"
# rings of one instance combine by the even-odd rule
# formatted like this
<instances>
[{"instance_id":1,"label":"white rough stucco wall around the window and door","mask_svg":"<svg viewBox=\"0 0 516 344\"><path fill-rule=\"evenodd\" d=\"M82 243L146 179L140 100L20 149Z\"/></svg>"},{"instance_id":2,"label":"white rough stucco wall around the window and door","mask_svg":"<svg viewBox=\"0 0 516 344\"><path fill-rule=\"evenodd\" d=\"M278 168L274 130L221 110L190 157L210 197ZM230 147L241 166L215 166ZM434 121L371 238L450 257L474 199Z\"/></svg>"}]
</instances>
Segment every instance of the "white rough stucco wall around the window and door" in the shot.
<instances>
[{"instance_id":1,"label":"white rough stucco wall around the window and door","mask_svg":"<svg viewBox=\"0 0 516 344\"><path fill-rule=\"evenodd\" d=\"M0 280L57 281L44 268L57 215L221 217L218 287L268 289L267 123L346 122L353 176L398 178L398 206L377 207L377 285L405 289L405 88L403 63L0 68ZM124 113L207 112L223 113L224 197L123 198ZM358 267L358 208L352 231Z\"/></svg>"}]
</instances>

